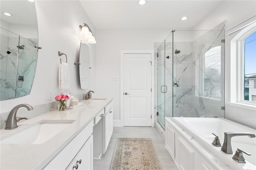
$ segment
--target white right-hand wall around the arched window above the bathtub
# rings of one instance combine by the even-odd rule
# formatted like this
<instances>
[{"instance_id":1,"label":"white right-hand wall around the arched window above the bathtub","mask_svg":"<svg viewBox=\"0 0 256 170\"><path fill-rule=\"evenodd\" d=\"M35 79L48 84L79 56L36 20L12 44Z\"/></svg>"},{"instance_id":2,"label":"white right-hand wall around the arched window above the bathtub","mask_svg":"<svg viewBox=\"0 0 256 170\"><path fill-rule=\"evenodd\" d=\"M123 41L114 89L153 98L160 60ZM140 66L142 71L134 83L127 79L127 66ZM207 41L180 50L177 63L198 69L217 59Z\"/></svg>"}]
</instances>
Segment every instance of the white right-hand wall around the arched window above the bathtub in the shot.
<instances>
[{"instance_id":1,"label":"white right-hand wall around the arched window above the bathtub","mask_svg":"<svg viewBox=\"0 0 256 170\"><path fill-rule=\"evenodd\" d=\"M211 29L226 20L226 30L252 18L256 15L256 1L224 1L200 23L195 30ZM228 40L228 38L226 38ZM226 41L225 50L225 118L241 123L248 127L256 128L256 109L245 109L229 105L230 93L230 41Z\"/></svg>"}]
</instances>

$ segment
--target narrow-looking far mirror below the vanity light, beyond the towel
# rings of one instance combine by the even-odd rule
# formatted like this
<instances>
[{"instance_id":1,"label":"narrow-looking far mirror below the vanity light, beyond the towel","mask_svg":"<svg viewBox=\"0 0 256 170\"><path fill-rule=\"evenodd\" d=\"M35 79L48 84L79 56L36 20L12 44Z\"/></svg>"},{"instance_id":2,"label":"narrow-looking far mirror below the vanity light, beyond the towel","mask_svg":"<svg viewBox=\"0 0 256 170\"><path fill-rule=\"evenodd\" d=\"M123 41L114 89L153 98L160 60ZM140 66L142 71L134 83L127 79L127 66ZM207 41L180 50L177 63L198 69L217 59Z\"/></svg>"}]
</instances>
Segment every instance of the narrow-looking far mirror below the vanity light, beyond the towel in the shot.
<instances>
[{"instance_id":1,"label":"narrow-looking far mirror below the vanity light, beyond the towel","mask_svg":"<svg viewBox=\"0 0 256 170\"><path fill-rule=\"evenodd\" d=\"M79 77L81 89L88 89L90 85L90 51L86 43L80 42Z\"/></svg>"}]
</instances>

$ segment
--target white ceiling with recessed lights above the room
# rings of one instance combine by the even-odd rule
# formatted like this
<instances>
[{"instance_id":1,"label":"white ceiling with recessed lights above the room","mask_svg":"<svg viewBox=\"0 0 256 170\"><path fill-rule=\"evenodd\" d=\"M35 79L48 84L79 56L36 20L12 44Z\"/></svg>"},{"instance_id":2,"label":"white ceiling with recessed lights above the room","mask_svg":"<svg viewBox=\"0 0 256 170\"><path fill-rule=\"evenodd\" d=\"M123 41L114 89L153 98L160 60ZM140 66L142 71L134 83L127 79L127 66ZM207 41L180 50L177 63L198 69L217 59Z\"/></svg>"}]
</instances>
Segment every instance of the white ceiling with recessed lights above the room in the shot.
<instances>
[{"instance_id":1,"label":"white ceiling with recessed lights above the room","mask_svg":"<svg viewBox=\"0 0 256 170\"><path fill-rule=\"evenodd\" d=\"M193 28L223 0L80 0L96 29ZM182 16L188 20L182 21Z\"/></svg>"}]
</instances>

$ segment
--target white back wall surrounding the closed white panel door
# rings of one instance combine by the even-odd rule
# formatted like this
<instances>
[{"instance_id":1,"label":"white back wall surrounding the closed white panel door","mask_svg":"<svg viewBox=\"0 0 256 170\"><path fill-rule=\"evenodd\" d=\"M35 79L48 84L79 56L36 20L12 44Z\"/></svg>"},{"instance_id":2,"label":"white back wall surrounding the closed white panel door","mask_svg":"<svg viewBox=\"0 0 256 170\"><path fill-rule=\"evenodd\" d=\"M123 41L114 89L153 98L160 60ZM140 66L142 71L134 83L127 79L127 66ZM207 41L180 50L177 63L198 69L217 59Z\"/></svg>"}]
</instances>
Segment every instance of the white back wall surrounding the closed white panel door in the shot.
<instances>
[{"instance_id":1,"label":"white back wall surrounding the closed white panel door","mask_svg":"<svg viewBox=\"0 0 256 170\"><path fill-rule=\"evenodd\" d=\"M120 51L154 50L171 32L166 30L97 30L97 84L94 96L114 97L114 120L120 120ZM112 81L118 77L118 81Z\"/></svg>"}]
</instances>

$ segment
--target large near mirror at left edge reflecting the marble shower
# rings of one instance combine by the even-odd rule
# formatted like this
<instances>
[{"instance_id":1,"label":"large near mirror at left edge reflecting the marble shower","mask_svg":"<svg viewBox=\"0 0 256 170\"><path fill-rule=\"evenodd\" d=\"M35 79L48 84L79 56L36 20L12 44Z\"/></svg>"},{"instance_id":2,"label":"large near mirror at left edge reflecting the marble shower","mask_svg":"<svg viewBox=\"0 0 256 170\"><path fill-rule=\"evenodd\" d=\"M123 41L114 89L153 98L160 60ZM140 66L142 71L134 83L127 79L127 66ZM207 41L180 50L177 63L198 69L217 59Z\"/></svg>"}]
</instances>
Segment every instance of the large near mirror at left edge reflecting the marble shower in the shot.
<instances>
[{"instance_id":1,"label":"large near mirror at left edge reflecting the marble shower","mask_svg":"<svg viewBox=\"0 0 256 170\"><path fill-rule=\"evenodd\" d=\"M38 56L38 24L34 2L0 0L0 11L0 100L7 100L30 94Z\"/></svg>"}]
</instances>

